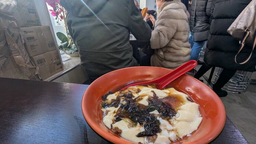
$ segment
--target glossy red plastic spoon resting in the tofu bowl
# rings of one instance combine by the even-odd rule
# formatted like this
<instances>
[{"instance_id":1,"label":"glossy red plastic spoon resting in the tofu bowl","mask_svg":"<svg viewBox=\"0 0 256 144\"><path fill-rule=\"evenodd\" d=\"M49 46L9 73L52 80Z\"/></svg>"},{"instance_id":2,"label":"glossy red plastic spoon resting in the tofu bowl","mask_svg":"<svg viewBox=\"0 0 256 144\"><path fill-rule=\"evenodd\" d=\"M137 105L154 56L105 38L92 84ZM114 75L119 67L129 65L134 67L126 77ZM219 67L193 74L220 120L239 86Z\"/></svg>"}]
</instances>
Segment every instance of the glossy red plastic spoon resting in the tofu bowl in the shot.
<instances>
[{"instance_id":1,"label":"glossy red plastic spoon resting in the tofu bowl","mask_svg":"<svg viewBox=\"0 0 256 144\"><path fill-rule=\"evenodd\" d=\"M157 89L163 89L168 84L170 84L172 81L176 80L176 78L178 78L178 77L182 76L183 74L185 74L186 72L194 69L196 66L197 66L197 61L191 60L191 61L188 61L188 62L182 64L180 67L176 68L172 72L170 72L162 77L159 77L153 81L131 84L131 85L124 87L121 90L125 90L131 86L148 85L148 84L155 84Z\"/></svg>"}]
</instances>

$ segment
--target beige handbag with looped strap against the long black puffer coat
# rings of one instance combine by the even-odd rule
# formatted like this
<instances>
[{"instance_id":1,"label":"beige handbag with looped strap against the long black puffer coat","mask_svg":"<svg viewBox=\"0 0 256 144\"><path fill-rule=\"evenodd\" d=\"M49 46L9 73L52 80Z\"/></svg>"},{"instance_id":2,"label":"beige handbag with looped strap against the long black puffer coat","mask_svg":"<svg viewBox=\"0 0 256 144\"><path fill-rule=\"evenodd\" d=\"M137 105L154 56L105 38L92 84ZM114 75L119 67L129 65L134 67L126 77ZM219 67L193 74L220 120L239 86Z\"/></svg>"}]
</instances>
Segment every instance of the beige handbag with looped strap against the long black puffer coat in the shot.
<instances>
[{"instance_id":1,"label":"beige handbag with looped strap against the long black puffer coat","mask_svg":"<svg viewBox=\"0 0 256 144\"><path fill-rule=\"evenodd\" d=\"M232 37L239 40L240 48L235 56L235 62L238 64L245 64L248 62L253 54L253 50L256 45L256 0L252 0L246 8L240 13L240 15L234 20L227 32ZM250 56L243 62L237 62L237 56L244 49L244 46L252 46Z\"/></svg>"}]
</instances>

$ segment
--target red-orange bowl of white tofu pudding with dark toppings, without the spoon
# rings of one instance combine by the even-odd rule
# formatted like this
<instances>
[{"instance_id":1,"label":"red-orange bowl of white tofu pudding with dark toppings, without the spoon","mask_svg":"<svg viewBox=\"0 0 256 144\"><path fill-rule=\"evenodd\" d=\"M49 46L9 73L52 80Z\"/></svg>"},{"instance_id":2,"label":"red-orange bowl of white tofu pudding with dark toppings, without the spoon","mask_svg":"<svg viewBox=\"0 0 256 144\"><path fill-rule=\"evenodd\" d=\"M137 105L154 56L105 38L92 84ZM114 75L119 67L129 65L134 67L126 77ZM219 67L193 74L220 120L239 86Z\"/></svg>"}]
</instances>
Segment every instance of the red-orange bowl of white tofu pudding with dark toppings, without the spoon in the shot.
<instances>
[{"instance_id":1,"label":"red-orange bowl of white tofu pudding with dark toppings, without the spoon","mask_svg":"<svg viewBox=\"0 0 256 144\"><path fill-rule=\"evenodd\" d=\"M172 70L131 67L107 73L85 91L82 112L89 126L112 143L209 143L226 121L224 105L207 85L183 75L164 89L151 81Z\"/></svg>"}]
</instances>

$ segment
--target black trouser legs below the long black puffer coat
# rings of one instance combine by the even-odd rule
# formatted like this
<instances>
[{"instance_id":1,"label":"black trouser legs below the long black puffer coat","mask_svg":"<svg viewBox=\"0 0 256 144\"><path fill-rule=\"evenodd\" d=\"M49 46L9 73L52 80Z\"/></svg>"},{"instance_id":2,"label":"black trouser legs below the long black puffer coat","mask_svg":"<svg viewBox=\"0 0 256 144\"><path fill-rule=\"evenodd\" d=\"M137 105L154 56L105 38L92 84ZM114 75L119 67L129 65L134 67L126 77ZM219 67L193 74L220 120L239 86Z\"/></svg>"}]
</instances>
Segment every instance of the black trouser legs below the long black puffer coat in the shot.
<instances>
[{"instance_id":1,"label":"black trouser legs below the long black puffer coat","mask_svg":"<svg viewBox=\"0 0 256 144\"><path fill-rule=\"evenodd\" d=\"M212 66L208 65L207 63L204 63L194 77L196 79L199 79L201 76L203 76L203 74L205 74L211 68ZM221 72L221 75L219 75L219 78L217 82L214 84L213 88L221 89L230 80L230 78L233 77L235 73L236 73L236 70L223 69L223 71Z\"/></svg>"}]
</instances>

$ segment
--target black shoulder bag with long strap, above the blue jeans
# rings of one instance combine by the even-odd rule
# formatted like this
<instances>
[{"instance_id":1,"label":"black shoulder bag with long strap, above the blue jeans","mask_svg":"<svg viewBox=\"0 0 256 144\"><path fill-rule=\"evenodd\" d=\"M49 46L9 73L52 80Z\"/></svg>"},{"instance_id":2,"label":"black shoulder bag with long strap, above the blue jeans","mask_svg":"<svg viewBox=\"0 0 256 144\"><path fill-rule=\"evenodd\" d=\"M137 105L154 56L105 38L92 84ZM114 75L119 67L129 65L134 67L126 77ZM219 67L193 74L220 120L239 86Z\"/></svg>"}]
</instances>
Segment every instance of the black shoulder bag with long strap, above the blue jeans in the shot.
<instances>
[{"instance_id":1,"label":"black shoulder bag with long strap, above the blue jeans","mask_svg":"<svg viewBox=\"0 0 256 144\"><path fill-rule=\"evenodd\" d=\"M196 5L197 5L197 0L195 2L195 10L194 10L194 17L193 17L193 37L194 37L194 42L200 42L200 41L206 41L208 39L208 36L210 34L210 25L209 24L200 24L197 25L195 24L196 20Z\"/></svg>"}]
</instances>

